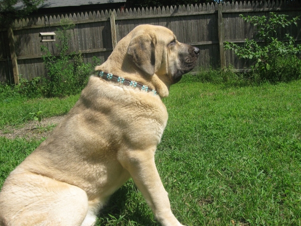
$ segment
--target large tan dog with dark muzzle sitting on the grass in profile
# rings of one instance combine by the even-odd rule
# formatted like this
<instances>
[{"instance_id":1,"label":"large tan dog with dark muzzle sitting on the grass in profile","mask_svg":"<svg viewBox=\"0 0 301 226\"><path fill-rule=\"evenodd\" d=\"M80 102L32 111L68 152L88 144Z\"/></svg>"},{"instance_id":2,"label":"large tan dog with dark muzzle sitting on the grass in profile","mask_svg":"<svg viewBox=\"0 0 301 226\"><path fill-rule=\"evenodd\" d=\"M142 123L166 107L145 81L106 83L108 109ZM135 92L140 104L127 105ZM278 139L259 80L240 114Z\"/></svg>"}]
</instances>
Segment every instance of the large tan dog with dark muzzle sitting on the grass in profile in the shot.
<instances>
[{"instance_id":1,"label":"large tan dog with dark muzzle sitting on the grass in profile","mask_svg":"<svg viewBox=\"0 0 301 226\"><path fill-rule=\"evenodd\" d=\"M93 225L109 196L132 177L162 225L182 225L154 155L168 119L161 98L198 55L165 27L132 30L96 67L99 76L90 77L64 121L9 175L0 224Z\"/></svg>"}]
</instances>

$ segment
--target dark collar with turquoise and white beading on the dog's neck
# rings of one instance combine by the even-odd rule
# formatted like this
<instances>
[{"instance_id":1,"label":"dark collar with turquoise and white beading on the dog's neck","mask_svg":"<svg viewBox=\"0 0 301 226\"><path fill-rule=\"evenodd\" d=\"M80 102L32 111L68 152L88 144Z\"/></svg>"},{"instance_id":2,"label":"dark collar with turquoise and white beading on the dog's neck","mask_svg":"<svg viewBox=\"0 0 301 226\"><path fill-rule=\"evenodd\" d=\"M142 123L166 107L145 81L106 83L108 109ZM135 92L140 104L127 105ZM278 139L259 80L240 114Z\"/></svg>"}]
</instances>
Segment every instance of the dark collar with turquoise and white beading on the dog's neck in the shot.
<instances>
[{"instance_id":1,"label":"dark collar with turquoise and white beading on the dog's neck","mask_svg":"<svg viewBox=\"0 0 301 226\"><path fill-rule=\"evenodd\" d=\"M120 84L129 85L131 87L137 87L145 92L153 92L154 95L157 95L157 94L159 95L159 93L155 89L148 88L146 85L143 85L140 82L136 82L136 81L132 81L132 80L129 80L129 79L126 79L123 77L119 77L119 76L113 75L111 73L99 71L97 76L101 77L105 80L113 80Z\"/></svg>"}]
</instances>

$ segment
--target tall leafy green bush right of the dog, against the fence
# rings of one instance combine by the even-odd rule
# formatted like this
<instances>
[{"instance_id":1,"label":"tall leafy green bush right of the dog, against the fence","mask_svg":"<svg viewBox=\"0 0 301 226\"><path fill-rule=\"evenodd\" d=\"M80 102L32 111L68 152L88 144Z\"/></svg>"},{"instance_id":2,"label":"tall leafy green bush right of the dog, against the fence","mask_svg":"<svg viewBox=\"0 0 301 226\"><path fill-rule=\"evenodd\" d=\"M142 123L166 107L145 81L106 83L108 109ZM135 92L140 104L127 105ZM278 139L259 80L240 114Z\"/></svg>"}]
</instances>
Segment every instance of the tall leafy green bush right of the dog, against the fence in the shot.
<instances>
[{"instance_id":1,"label":"tall leafy green bush right of the dog, against the fence","mask_svg":"<svg viewBox=\"0 0 301 226\"><path fill-rule=\"evenodd\" d=\"M300 78L301 45L294 45L294 38L288 33L279 41L281 28L297 25L298 17L287 20L287 15L270 13L270 17L240 17L256 26L258 41L246 39L242 47L234 43L225 43L225 49L234 50L239 58L254 61L252 74L255 80L288 81ZM263 41L263 42L262 42Z\"/></svg>"}]
</instances>

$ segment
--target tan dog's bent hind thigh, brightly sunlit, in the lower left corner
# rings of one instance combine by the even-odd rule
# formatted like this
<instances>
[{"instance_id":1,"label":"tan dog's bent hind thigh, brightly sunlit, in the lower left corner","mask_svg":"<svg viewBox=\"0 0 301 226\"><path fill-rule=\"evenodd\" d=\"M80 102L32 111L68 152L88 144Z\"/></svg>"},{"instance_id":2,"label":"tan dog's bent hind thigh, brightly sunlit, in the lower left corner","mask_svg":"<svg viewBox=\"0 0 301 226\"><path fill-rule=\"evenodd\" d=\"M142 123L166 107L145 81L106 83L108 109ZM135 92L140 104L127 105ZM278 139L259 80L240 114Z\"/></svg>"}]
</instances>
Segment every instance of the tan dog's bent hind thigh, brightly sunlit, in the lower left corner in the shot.
<instances>
[{"instance_id":1,"label":"tan dog's bent hind thigh, brightly sunlit, in the lower left corner","mask_svg":"<svg viewBox=\"0 0 301 226\"><path fill-rule=\"evenodd\" d=\"M10 175L0 194L8 225L80 226L88 213L84 190L42 175Z\"/></svg>"}]
</instances>

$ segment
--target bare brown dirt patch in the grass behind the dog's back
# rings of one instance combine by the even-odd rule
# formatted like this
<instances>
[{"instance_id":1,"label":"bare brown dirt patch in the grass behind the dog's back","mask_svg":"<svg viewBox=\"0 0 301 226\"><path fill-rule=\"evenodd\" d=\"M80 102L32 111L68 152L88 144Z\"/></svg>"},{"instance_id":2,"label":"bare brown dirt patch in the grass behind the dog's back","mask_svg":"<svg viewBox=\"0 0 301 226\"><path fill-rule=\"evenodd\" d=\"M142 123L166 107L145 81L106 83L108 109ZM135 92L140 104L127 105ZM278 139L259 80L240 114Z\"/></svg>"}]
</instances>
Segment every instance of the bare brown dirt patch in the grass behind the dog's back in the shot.
<instances>
[{"instance_id":1,"label":"bare brown dirt patch in the grass behind the dog's back","mask_svg":"<svg viewBox=\"0 0 301 226\"><path fill-rule=\"evenodd\" d=\"M15 138L26 138L30 139L41 139L48 137L55 126L59 124L65 116L54 116L50 118L42 119L41 126L37 121L30 121L20 128L7 126L4 129L0 130L0 136L6 137L9 139Z\"/></svg>"}]
</instances>

